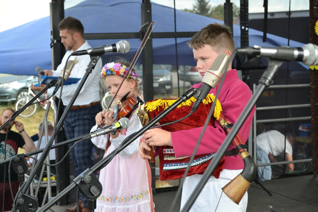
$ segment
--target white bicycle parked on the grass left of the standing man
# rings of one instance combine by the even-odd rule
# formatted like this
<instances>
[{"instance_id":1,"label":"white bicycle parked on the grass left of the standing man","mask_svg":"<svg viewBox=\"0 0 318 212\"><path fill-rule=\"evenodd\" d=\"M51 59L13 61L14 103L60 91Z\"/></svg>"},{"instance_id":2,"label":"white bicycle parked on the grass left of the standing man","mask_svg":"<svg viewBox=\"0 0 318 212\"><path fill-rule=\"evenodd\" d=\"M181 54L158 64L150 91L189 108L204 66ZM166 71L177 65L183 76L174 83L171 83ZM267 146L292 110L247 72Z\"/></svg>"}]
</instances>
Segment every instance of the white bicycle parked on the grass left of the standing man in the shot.
<instances>
[{"instance_id":1,"label":"white bicycle parked on the grass left of the standing man","mask_svg":"<svg viewBox=\"0 0 318 212\"><path fill-rule=\"evenodd\" d=\"M17 100L17 103L15 105L15 109L16 111L19 110L20 108L22 108L26 103L28 103L33 97L35 97L34 92L31 90L31 87L28 88L28 92L24 94L24 96L22 96L20 99ZM45 99L47 98L47 94L45 94ZM39 102L44 109L46 109L47 104L48 104L48 100L41 102L42 99L36 99L34 100L33 103ZM25 108L24 111L22 111L22 113L19 114L19 116L22 117L30 117L32 116L35 111L37 110L37 104L34 105L30 105L27 108Z\"/></svg>"}]
</instances>

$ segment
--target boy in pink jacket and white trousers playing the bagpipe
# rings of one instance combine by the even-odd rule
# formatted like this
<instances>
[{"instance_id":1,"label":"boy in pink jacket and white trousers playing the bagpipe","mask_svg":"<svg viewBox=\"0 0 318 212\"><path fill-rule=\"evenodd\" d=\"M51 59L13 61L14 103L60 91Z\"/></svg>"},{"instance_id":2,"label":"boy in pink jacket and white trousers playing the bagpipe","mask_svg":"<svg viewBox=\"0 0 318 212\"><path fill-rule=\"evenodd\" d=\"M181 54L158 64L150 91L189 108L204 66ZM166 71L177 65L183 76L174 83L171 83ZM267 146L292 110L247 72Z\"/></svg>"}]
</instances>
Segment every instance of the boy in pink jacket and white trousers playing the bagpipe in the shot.
<instances>
[{"instance_id":1,"label":"boy in pink jacket and white trousers playing the bagpipe","mask_svg":"<svg viewBox=\"0 0 318 212\"><path fill-rule=\"evenodd\" d=\"M216 23L209 24L198 31L188 44L193 49L197 69L202 77L219 54L226 53L230 57L235 50L230 28ZM199 88L201 85L202 83L193 85L192 87ZM209 93L216 95L218 88L219 84L214 89L211 89ZM218 96L225 119L230 123L235 123L251 96L250 88L238 78L236 69L231 70L230 65ZM244 141L247 140L250 132L253 113L254 109L239 130L239 134ZM192 118L195 119L195 117ZM139 153L142 158L150 159L150 148L147 145L153 146L154 151L157 149L157 152L159 148L156 147L167 145L173 147L176 158L190 156L197 144L202 129L203 127L197 127L172 133L158 128L148 130L144 133L146 141L141 143ZM215 120L214 127L207 127L196 155L216 153L225 140L225 137L226 133L224 129ZM227 150L229 151L233 148L234 145L231 144ZM224 168L219 178L217 179L214 176L209 178L190 211L211 211L214 210L217 205L218 211L246 211L247 193L245 193L239 205L232 202L226 195L221 196L222 188L240 174L243 168L244 162L239 154L225 157ZM201 177L201 174L193 174L185 178L182 190L181 209L189 199ZM219 199L220 202L218 204Z\"/></svg>"}]
</instances>

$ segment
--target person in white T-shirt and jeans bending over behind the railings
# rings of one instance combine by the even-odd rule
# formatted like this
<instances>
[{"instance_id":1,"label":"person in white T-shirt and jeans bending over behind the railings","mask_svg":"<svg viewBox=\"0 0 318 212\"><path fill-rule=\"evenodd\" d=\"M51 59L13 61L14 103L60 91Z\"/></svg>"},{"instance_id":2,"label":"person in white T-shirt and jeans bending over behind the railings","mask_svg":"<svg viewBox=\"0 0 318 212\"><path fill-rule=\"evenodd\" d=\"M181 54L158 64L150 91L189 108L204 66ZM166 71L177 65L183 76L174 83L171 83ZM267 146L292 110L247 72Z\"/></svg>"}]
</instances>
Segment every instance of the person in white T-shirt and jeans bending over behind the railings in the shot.
<instances>
[{"instance_id":1,"label":"person in white T-shirt and jeans bending over behind the railings","mask_svg":"<svg viewBox=\"0 0 318 212\"><path fill-rule=\"evenodd\" d=\"M285 141L285 142L284 142ZM295 143L294 133L285 135L277 130L270 130L261 133L256 137L257 164L277 162L275 156L283 155L286 144L286 161L293 160L293 148ZM294 171L294 164L287 164L288 171ZM259 180L270 180L272 176L271 166L257 167Z\"/></svg>"}]
</instances>

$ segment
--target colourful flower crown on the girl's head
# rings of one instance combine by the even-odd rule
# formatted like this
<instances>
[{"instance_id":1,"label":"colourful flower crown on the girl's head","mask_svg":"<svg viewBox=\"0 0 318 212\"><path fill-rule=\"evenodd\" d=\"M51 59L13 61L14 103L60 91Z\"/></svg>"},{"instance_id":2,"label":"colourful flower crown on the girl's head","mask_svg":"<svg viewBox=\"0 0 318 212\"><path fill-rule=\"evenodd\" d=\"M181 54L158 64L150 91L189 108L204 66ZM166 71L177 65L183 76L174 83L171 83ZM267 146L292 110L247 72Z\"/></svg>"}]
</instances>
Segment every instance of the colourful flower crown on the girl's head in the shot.
<instances>
[{"instance_id":1,"label":"colourful flower crown on the girl's head","mask_svg":"<svg viewBox=\"0 0 318 212\"><path fill-rule=\"evenodd\" d=\"M117 74L124 77L125 74L128 72L128 69L129 67L126 67L126 65L121 65L120 63L107 63L102 69L100 69L100 76L102 78L105 78L106 75ZM136 74L135 71L130 71L127 78L128 77L135 79L138 85L140 84L140 79L138 78L139 75Z\"/></svg>"}]
</instances>

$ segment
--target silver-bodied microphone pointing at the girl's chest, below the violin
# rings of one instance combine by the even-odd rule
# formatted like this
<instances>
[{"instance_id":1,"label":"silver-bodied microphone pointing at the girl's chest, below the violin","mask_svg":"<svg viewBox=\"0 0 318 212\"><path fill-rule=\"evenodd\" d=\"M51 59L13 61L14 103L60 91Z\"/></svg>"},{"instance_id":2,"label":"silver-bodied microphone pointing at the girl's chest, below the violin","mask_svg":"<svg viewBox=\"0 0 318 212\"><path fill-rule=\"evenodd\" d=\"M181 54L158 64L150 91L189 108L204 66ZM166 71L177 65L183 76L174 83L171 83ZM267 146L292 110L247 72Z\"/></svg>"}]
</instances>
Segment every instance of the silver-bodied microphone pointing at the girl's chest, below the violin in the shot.
<instances>
[{"instance_id":1,"label":"silver-bodied microphone pointing at the girl's chest, below the violin","mask_svg":"<svg viewBox=\"0 0 318 212\"><path fill-rule=\"evenodd\" d=\"M120 129L127 129L130 125L129 119L122 117L119 121L114 124L108 125L100 130L96 130L95 132L91 132L89 135L86 135L83 140L95 138L100 135L105 135L108 133L116 132Z\"/></svg>"}]
</instances>

